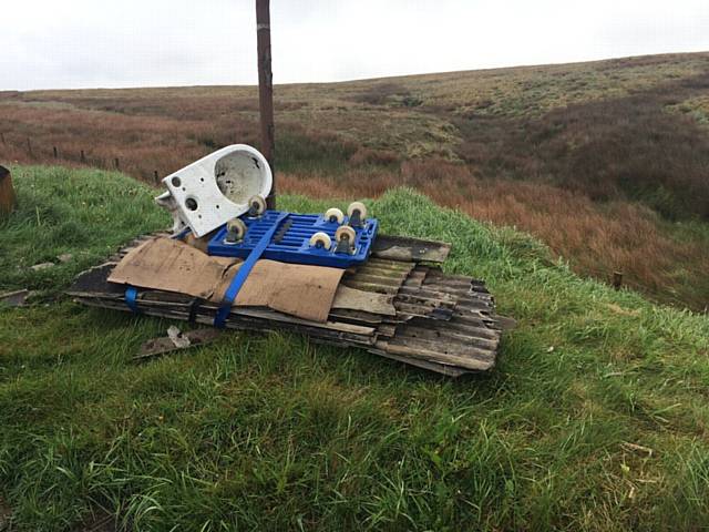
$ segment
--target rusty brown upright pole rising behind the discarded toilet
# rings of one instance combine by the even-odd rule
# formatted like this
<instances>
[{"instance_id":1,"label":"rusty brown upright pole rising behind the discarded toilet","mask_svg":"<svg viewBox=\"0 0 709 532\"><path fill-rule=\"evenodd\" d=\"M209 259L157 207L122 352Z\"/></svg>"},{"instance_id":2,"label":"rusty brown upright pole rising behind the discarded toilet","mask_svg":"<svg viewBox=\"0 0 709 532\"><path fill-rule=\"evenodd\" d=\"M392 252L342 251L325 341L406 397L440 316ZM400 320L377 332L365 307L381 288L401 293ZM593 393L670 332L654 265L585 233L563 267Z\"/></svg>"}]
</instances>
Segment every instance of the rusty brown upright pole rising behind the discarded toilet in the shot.
<instances>
[{"instance_id":1,"label":"rusty brown upright pole rising behind the discarded toilet","mask_svg":"<svg viewBox=\"0 0 709 532\"><path fill-rule=\"evenodd\" d=\"M268 208L276 208L276 168L274 155L274 75L270 70L270 0L256 0L256 37L258 41L258 104L261 116L261 151L274 174L274 185L266 198Z\"/></svg>"}]
</instances>

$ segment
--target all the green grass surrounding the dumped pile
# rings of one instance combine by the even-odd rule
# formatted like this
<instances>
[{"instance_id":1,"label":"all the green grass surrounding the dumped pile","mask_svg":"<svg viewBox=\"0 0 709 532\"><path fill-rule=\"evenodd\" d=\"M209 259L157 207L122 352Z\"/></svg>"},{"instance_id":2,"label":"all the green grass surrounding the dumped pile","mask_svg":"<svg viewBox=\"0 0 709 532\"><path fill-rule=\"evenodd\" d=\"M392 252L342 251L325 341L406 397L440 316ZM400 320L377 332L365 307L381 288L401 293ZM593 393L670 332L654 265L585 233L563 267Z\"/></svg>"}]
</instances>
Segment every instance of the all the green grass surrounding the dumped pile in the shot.
<instances>
[{"instance_id":1,"label":"all the green grass surrounding the dumped pile","mask_svg":"<svg viewBox=\"0 0 709 532\"><path fill-rule=\"evenodd\" d=\"M13 263L59 250L99 262L165 223L151 191L120 175L12 170L3 287L61 288L73 266L47 279ZM13 530L76 530L92 512L151 531L709 525L706 315L582 280L538 242L409 190L369 205L388 233L454 242L446 268L485 278L518 320L494 371L453 381L239 332L136 366L168 321L62 297L0 310L0 497ZM81 237L49 238L50 219Z\"/></svg>"}]
</instances>

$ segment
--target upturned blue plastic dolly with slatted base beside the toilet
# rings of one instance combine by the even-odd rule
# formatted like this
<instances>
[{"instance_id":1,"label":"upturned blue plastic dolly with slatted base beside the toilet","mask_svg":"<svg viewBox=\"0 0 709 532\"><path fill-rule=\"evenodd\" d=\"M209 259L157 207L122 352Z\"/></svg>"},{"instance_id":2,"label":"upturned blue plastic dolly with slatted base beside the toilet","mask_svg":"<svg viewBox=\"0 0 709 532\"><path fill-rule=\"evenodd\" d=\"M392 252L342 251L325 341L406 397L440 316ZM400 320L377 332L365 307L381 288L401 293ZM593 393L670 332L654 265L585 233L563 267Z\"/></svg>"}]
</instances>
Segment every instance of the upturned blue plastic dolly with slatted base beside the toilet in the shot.
<instances>
[{"instance_id":1,"label":"upturned blue plastic dolly with slatted base beside the toilet","mask_svg":"<svg viewBox=\"0 0 709 532\"><path fill-rule=\"evenodd\" d=\"M246 258L261 236L282 214L280 211L266 211L259 217L242 217L246 224L246 235L243 241L235 244L229 244L225 241L227 234L225 225L209 241L207 253L219 257ZM345 224L348 222L348 217L345 217ZM280 222L276 234L261 257L282 263L310 264L333 268L349 268L367 260L379 227L377 218L367 218L361 227L352 227L356 233L354 253L352 254L336 253L335 232L338 227L339 225L336 222L326 219L321 214L289 213ZM318 232L327 233L332 241L329 249L310 246L310 237Z\"/></svg>"}]
</instances>

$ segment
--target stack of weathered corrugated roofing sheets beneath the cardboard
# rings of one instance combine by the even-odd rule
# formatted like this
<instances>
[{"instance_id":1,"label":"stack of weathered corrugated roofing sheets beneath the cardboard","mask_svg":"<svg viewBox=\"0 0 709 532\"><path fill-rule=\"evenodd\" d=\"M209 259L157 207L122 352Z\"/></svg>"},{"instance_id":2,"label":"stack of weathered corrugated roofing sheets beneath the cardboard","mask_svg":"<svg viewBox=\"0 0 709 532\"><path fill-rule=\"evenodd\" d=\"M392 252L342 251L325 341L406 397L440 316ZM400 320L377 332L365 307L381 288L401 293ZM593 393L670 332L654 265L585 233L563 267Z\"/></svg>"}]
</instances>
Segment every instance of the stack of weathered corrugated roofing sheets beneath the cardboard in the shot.
<instances>
[{"instance_id":1,"label":"stack of weathered corrugated roofing sheets beneath the cardboard","mask_svg":"<svg viewBox=\"0 0 709 532\"><path fill-rule=\"evenodd\" d=\"M107 263L81 274L69 294L84 305L130 311L125 286L107 278L117 262L147 238L134 241ZM441 270L449 252L448 244L380 235L370 259L345 273L341 287L352 289L347 294L349 303L332 305L327 320L234 306L226 326L292 330L316 341L359 347L453 377L487 370L495 364L505 319L495 315L482 282ZM387 296L390 304L378 305L382 298L374 295ZM138 289L135 303L145 315L207 325L218 309L215 303L154 289Z\"/></svg>"}]
</instances>

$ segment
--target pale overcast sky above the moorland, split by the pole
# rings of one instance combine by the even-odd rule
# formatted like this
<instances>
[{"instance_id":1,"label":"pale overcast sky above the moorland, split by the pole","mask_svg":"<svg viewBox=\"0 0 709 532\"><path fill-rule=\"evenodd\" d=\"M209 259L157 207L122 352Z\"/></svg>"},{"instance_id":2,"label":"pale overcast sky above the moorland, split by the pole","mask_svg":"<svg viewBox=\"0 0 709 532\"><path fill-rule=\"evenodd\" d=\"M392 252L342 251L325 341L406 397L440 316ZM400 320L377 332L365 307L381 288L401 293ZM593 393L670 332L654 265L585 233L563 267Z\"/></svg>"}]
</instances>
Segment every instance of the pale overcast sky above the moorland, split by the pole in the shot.
<instances>
[{"instance_id":1,"label":"pale overcast sky above the moorland, split by the pole","mask_svg":"<svg viewBox=\"0 0 709 532\"><path fill-rule=\"evenodd\" d=\"M253 84L254 0L1 0L0 90ZM709 50L709 0L271 0L274 82Z\"/></svg>"}]
</instances>

